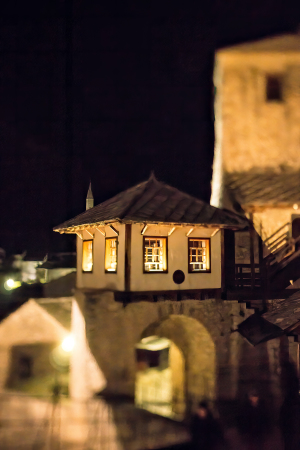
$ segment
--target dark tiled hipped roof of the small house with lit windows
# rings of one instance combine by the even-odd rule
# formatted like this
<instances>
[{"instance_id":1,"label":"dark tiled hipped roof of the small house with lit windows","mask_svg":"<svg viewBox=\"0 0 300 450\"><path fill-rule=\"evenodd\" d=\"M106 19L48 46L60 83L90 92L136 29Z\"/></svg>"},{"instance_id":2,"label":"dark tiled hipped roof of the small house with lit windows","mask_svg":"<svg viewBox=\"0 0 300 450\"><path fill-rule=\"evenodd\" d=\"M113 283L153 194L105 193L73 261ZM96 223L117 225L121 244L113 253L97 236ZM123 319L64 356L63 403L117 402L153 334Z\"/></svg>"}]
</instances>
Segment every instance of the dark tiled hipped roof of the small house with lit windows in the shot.
<instances>
[{"instance_id":1,"label":"dark tiled hipped roof of the small house with lit windows","mask_svg":"<svg viewBox=\"0 0 300 450\"><path fill-rule=\"evenodd\" d=\"M245 228L248 221L157 181L154 175L54 228L62 231L104 222L202 224Z\"/></svg>"}]
</instances>

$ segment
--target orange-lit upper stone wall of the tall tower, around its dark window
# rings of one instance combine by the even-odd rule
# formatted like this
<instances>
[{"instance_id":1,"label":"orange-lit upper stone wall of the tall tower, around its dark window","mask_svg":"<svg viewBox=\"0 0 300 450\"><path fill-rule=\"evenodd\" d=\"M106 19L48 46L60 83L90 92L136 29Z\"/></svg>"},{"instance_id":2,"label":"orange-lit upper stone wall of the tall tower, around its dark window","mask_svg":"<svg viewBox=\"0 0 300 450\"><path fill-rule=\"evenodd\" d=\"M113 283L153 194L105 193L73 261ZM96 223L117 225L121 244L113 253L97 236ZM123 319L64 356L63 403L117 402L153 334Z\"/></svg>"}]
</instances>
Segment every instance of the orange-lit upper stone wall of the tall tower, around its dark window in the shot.
<instances>
[{"instance_id":1,"label":"orange-lit upper stone wall of the tall tower, around its dark window","mask_svg":"<svg viewBox=\"0 0 300 450\"><path fill-rule=\"evenodd\" d=\"M300 52L218 52L216 132L226 171L300 168L299 67ZM283 101L266 101L268 74L283 77Z\"/></svg>"}]
</instances>

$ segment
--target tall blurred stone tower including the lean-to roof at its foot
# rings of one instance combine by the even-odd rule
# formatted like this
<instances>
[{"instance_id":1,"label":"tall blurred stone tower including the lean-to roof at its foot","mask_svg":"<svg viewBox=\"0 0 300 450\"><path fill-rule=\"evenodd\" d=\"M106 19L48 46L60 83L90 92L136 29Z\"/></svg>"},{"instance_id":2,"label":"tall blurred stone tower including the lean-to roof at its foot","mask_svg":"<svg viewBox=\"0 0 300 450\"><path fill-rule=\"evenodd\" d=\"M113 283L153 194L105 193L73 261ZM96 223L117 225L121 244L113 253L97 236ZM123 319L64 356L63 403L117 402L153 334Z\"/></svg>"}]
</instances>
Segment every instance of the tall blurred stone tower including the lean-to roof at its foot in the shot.
<instances>
[{"instance_id":1,"label":"tall blurred stone tower including the lean-to roof at its foot","mask_svg":"<svg viewBox=\"0 0 300 450\"><path fill-rule=\"evenodd\" d=\"M211 204L251 215L264 240L299 235L300 35L218 51L214 83Z\"/></svg>"}]
</instances>

